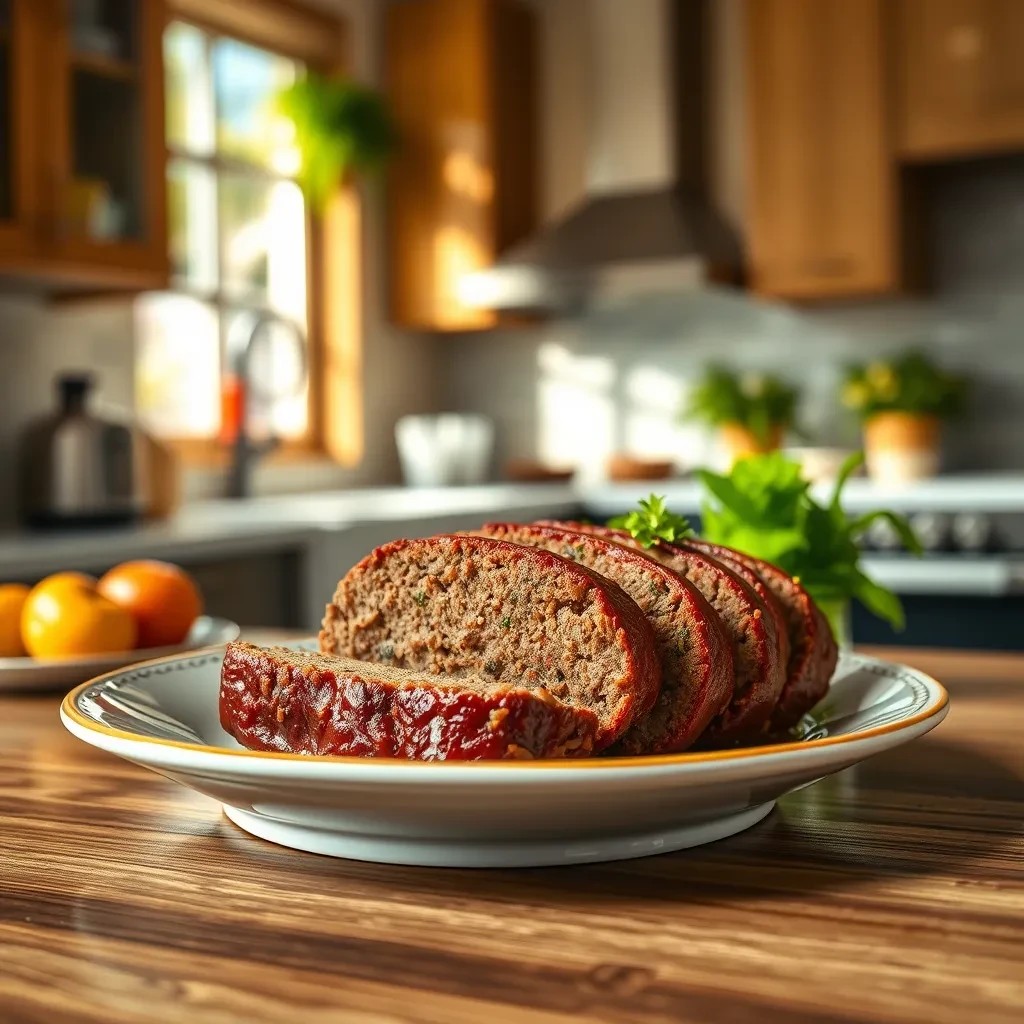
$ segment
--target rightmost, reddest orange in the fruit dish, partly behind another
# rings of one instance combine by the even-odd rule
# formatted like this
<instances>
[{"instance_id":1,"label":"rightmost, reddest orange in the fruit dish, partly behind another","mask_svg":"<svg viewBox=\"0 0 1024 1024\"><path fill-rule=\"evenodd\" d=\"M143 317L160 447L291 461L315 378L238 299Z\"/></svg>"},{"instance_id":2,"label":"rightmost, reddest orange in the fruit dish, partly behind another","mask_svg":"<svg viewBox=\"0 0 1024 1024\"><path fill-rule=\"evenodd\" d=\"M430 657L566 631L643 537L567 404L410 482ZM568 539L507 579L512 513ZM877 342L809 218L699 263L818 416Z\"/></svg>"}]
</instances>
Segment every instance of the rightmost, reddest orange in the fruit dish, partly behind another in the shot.
<instances>
[{"instance_id":1,"label":"rightmost, reddest orange in the fruit dish, partly behind another","mask_svg":"<svg viewBox=\"0 0 1024 1024\"><path fill-rule=\"evenodd\" d=\"M203 611L195 581L169 562L123 562L99 581L99 592L132 613L139 647L181 643Z\"/></svg>"}]
</instances>

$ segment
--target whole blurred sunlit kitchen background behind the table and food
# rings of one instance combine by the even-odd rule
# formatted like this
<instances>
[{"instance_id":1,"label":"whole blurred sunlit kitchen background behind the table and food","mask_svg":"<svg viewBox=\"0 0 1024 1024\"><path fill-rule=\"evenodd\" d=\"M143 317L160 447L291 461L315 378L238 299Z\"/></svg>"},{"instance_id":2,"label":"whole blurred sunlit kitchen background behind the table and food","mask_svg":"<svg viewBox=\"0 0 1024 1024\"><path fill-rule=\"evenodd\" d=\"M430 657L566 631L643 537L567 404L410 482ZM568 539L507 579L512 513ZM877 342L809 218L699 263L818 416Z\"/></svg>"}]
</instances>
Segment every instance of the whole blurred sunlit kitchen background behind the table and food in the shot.
<instances>
[{"instance_id":1,"label":"whole blurred sunlit kitchen background behind the table and food","mask_svg":"<svg viewBox=\"0 0 1024 1024\"><path fill-rule=\"evenodd\" d=\"M311 629L394 536L864 446L901 641L1021 649L1022 51L1015 0L2 0L0 578Z\"/></svg>"}]
</instances>

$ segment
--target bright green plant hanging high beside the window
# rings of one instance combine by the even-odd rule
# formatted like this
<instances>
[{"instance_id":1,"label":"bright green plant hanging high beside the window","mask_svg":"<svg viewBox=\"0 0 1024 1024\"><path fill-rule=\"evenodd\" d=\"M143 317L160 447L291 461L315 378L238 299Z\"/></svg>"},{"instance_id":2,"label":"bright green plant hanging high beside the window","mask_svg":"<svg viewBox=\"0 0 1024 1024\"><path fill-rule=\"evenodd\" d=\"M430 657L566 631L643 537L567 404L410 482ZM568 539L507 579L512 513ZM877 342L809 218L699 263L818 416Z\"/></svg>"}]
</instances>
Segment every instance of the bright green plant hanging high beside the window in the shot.
<instances>
[{"instance_id":1,"label":"bright green plant hanging high beside the window","mask_svg":"<svg viewBox=\"0 0 1024 1024\"><path fill-rule=\"evenodd\" d=\"M348 79L307 74L276 96L295 129L299 184L323 211L352 174L377 171L397 145L397 132L379 92Z\"/></svg>"}]
</instances>

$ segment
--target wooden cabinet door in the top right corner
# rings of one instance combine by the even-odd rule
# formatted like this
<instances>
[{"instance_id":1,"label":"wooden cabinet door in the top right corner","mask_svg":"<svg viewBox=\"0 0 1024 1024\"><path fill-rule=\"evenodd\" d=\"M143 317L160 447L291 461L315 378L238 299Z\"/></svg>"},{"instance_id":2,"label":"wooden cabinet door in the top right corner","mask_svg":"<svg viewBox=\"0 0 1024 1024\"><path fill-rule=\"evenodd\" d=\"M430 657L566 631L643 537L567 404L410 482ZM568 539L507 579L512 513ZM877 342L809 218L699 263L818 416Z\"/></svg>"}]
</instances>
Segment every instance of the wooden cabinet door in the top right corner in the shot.
<instances>
[{"instance_id":1,"label":"wooden cabinet door in the top right corner","mask_svg":"<svg viewBox=\"0 0 1024 1024\"><path fill-rule=\"evenodd\" d=\"M1024 147L1021 0L899 0L895 35L901 156Z\"/></svg>"}]
</instances>

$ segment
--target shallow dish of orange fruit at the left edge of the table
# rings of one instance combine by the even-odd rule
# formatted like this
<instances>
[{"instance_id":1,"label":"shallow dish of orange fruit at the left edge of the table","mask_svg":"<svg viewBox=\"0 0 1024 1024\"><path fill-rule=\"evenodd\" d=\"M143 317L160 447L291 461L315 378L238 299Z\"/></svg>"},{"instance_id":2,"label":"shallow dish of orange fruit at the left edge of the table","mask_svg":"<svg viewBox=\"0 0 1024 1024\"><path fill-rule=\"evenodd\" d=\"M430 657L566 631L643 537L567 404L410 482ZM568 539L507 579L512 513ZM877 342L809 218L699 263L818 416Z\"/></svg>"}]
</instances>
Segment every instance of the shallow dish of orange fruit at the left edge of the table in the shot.
<instances>
[{"instance_id":1,"label":"shallow dish of orange fruit at the left edge of the table","mask_svg":"<svg viewBox=\"0 0 1024 1024\"><path fill-rule=\"evenodd\" d=\"M56 572L0 584L0 691L73 686L167 654L227 643L239 627L203 614L184 569L139 560L98 580Z\"/></svg>"}]
</instances>

